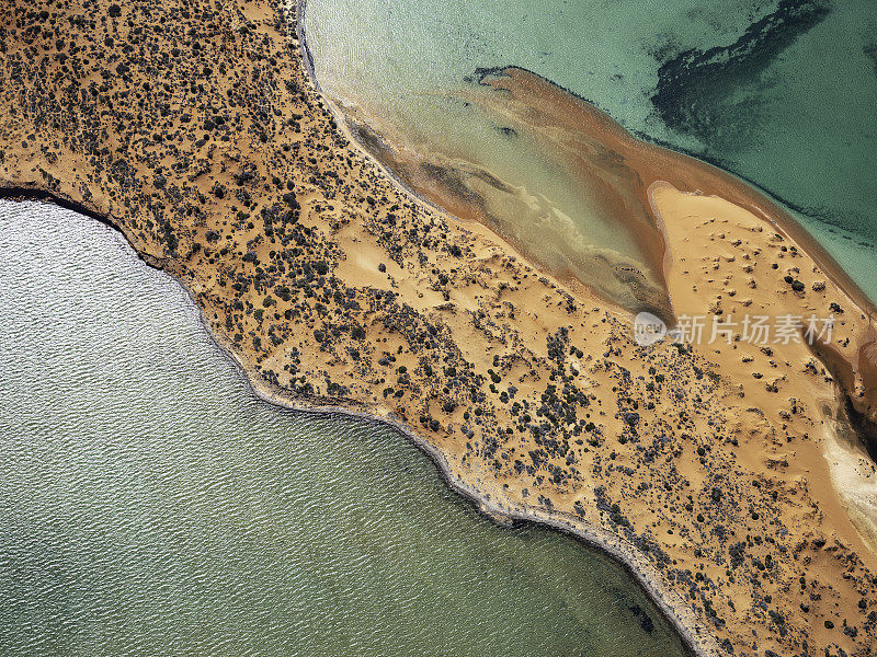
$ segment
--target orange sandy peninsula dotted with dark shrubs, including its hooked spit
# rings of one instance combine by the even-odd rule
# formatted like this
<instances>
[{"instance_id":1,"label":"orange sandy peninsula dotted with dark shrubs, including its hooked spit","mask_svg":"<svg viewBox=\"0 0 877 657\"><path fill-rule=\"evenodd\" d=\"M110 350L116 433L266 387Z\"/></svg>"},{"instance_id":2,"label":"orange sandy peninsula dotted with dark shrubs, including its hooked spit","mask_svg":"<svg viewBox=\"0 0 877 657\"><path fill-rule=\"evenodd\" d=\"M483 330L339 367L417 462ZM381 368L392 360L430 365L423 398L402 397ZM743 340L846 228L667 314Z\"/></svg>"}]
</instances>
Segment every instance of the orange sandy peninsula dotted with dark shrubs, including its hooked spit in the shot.
<instances>
[{"instance_id":1,"label":"orange sandy peninsula dotted with dark shrubs, including its hooked spit","mask_svg":"<svg viewBox=\"0 0 877 657\"><path fill-rule=\"evenodd\" d=\"M603 546L698 654L873 653L874 309L768 199L526 72L491 79L496 111L533 130L578 113L571 165L656 240L674 318L838 319L820 349L733 331L640 346L627 310L424 205L352 143L295 7L0 14L0 186L116 226L261 394L384 418L486 511Z\"/></svg>"}]
</instances>

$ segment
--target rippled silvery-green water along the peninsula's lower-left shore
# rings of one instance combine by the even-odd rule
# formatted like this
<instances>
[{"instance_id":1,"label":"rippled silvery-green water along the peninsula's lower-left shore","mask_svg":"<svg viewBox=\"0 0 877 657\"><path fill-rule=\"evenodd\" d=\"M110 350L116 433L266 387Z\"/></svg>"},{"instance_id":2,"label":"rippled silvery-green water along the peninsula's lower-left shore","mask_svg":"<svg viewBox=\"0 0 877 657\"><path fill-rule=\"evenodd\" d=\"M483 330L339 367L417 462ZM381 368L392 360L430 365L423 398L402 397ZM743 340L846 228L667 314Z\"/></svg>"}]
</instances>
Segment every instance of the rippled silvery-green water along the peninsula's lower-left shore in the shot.
<instances>
[{"instance_id":1,"label":"rippled silvery-green water along the peninsula's lower-left shore","mask_svg":"<svg viewBox=\"0 0 877 657\"><path fill-rule=\"evenodd\" d=\"M258 401L111 229L0 204L0 655L681 655L401 435Z\"/></svg>"}]
</instances>

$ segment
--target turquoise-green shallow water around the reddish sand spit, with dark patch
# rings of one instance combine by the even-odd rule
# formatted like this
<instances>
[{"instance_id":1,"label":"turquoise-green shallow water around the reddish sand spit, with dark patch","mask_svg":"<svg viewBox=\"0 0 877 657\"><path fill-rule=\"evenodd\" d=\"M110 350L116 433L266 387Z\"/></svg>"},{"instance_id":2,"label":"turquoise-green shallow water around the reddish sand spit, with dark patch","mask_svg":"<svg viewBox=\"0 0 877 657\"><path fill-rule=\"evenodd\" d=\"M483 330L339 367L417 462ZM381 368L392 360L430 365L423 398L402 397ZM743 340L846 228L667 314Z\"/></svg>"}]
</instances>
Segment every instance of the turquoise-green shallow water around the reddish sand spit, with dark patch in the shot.
<instances>
[{"instance_id":1,"label":"turquoise-green shallow water around the reddish sand spit, with dark patch","mask_svg":"<svg viewBox=\"0 0 877 657\"><path fill-rule=\"evenodd\" d=\"M503 232L569 252L546 238L553 211L584 235L572 251L641 255L550 153L460 102L476 68L515 65L778 197L877 299L873 0L308 0L306 18L329 95L415 152L476 162L538 199L535 214L505 208Z\"/></svg>"}]
</instances>

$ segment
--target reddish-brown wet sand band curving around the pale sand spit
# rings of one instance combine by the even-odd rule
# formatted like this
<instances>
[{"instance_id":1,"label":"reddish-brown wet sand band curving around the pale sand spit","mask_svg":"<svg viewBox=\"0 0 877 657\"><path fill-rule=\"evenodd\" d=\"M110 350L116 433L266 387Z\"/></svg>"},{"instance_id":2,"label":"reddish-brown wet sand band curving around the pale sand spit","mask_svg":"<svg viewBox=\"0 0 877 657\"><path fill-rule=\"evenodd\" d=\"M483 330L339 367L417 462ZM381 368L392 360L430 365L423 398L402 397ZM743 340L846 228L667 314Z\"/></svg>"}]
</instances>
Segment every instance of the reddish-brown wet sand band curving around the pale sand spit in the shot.
<instances>
[{"instance_id":1,"label":"reddish-brown wet sand band curving around the pale sand spit","mask_svg":"<svg viewBox=\"0 0 877 657\"><path fill-rule=\"evenodd\" d=\"M490 76L493 79L488 80ZM673 243L667 239L667 231L660 226L662 219L656 215L650 199L649 188L658 183L669 183L687 193L721 197L753 214L771 227L777 237L795 244L796 253L800 247L840 292L854 303L865 324L873 325L877 320L877 307L843 267L785 208L762 195L758 188L713 164L637 138L591 103L568 94L562 88L526 69L509 67L500 73L493 69L482 70L479 80L483 85L506 92L510 97L494 100L498 112L505 111L511 116L517 111L526 117L526 123L522 125L536 126L536 135L545 134L546 138L550 138L545 126L572 135L572 138L567 136L556 141L558 148L568 151L570 166L579 169L583 180L604 176L617 178L615 186L629 191L637 198L642 215L648 217L648 226L640 221L637 230L647 230L642 239L651 239L654 234L661 241L656 246L656 254L662 253L660 262L665 281L669 278L663 269L668 258L673 255ZM531 115L536 115L538 119ZM593 157L593 152L601 152L600 149L607 149L623 164L606 166L601 158ZM610 193L615 191L611 189ZM667 292L675 308L669 286ZM835 347L816 346L811 351L840 382L844 401L848 400L861 415L856 426L862 442L874 449L873 446L877 445L877 338L874 328L856 336L854 351L842 354ZM854 371L858 371L861 381L853 376Z\"/></svg>"}]
</instances>

